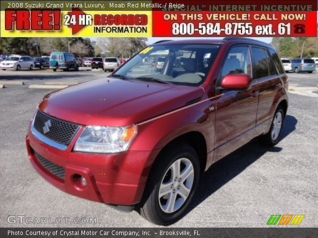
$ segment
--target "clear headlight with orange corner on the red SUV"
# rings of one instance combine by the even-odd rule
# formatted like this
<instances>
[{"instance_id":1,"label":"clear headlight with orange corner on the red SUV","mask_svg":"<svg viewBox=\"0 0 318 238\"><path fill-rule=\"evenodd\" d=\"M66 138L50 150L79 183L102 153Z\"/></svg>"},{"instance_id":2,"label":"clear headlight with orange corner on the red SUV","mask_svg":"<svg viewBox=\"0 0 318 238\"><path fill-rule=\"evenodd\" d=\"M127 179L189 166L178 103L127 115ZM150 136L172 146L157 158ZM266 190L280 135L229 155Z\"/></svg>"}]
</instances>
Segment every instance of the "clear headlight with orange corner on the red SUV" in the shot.
<instances>
[{"instance_id":1,"label":"clear headlight with orange corner on the red SUV","mask_svg":"<svg viewBox=\"0 0 318 238\"><path fill-rule=\"evenodd\" d=\"M118 153L126 151L137 132L132 126L92 126L81 132L74 150L92 153Z\"/></svg>"}]
</instances>

